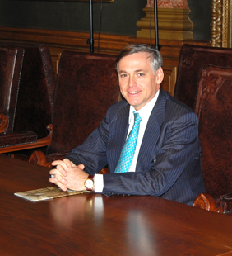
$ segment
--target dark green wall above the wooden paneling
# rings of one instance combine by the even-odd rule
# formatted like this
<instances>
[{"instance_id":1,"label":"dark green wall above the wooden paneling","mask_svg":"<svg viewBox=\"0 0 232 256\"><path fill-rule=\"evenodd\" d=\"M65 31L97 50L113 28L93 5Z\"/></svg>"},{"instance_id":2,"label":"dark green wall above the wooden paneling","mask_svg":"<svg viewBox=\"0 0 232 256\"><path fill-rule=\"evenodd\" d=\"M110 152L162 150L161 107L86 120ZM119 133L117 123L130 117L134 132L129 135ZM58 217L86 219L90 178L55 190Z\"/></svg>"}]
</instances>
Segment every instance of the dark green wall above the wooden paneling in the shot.
<instances>
[{"instance_id":1,"label":"dark green wall above the wooden paneling","mask_svg":"<svg viewBox=\"0 0 232 256\"><path fill-rule=\"evenodd\" d=\"M136 36L136 23L145 12L146 0L103 3L101 33ZM188 0L193 39L211 39L211 0ZM100 29L100 2L93 3L94 31ZM89 31L89 2L0 0L0 26L59 31Z\"/></svg>"}]
</instances>

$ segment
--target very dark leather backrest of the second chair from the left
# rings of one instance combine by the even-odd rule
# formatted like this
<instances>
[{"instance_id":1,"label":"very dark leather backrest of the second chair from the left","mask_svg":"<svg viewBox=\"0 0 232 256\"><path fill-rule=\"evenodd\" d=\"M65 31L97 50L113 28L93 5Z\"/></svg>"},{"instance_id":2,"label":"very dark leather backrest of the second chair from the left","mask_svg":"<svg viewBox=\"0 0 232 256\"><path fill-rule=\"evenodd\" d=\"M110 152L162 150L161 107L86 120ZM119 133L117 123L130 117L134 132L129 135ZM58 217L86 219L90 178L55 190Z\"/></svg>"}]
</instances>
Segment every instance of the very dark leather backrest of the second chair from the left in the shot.
<instances>
[{"instance_id":1,"label":"very dark leather backrest of the second chair from the left","mask_svg":"<svg viewBox=\"0 0 232 256\"><path fill-rule=\"evenodd\" d=\"M30 130L38 139L49 134L55 77L49 47L16 44L25 50L16 108L15 132Z\"/></svg>"}]
</instances>

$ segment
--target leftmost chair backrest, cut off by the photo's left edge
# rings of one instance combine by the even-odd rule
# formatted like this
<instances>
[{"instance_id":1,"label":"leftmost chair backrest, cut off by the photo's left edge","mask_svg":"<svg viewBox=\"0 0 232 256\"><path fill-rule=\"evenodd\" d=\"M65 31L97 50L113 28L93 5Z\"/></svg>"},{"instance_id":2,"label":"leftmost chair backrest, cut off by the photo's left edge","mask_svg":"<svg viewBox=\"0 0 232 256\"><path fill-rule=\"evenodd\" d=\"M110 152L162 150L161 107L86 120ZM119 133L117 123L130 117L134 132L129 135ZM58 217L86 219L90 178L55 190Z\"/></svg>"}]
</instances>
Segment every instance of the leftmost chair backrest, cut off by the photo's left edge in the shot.
<instances>
[{"instance_id":1,"label":"leftmost chair backrest, cut off by the photo's left edge","mask_svg":"<svg viewBox=\"0 0 232 256\"><path fill-rule=\"evenodd\" d=\"M6 118L5 124L0 120L0 132L4 134L14 130L23 58L23 49L0 46L0 115Z\"/></svg>"}]
</instances>

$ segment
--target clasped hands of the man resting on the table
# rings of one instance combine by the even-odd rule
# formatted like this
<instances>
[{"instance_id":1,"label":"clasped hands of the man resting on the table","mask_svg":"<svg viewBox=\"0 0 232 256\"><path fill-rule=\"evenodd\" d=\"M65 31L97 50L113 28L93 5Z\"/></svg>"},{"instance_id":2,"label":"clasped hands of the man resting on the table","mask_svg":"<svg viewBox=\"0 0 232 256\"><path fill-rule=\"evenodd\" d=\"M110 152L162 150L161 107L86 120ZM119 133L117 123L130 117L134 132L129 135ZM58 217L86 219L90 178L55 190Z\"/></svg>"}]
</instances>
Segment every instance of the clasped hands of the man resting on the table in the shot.
<instances>
[{"instance_id":1,"label":"clasped hands of the man resting on the table","mask_svg":"<svg viewBox=\"0 0 232 256\"><path fill-rule=\"evenodd\" d=\"M49 172L53 175L53 178L49 178L50 183L55 183L63 191L67 191L67 188L77 191L86 189L84 183L89 174L83 171L83 164L77 166L69 159L63 159L54 161L52 165L56 168Z\"/></svg>"}]
</instances>

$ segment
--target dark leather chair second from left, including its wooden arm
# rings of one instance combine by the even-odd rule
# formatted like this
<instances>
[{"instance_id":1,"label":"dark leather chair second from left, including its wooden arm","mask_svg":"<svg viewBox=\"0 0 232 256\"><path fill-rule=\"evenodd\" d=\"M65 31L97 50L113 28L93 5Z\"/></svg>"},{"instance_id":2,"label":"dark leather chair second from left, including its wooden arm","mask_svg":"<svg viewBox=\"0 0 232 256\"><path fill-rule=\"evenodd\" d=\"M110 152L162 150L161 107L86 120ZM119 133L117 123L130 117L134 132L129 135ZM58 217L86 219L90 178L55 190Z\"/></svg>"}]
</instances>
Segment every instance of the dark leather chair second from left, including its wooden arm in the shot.
<instances>
[{"instance_id":1,"label":"dark leather chair second from left, including its wooden arm","mask_svg":"<svg viewBox=\"0 0 232 256\"><path fill-rule=\"evenodd\" d=\"M12 133L0 135L0 154L35 149L51 142L55 78L46 45L1 43L24 50Z\"/></svg>"}]
</instances>

